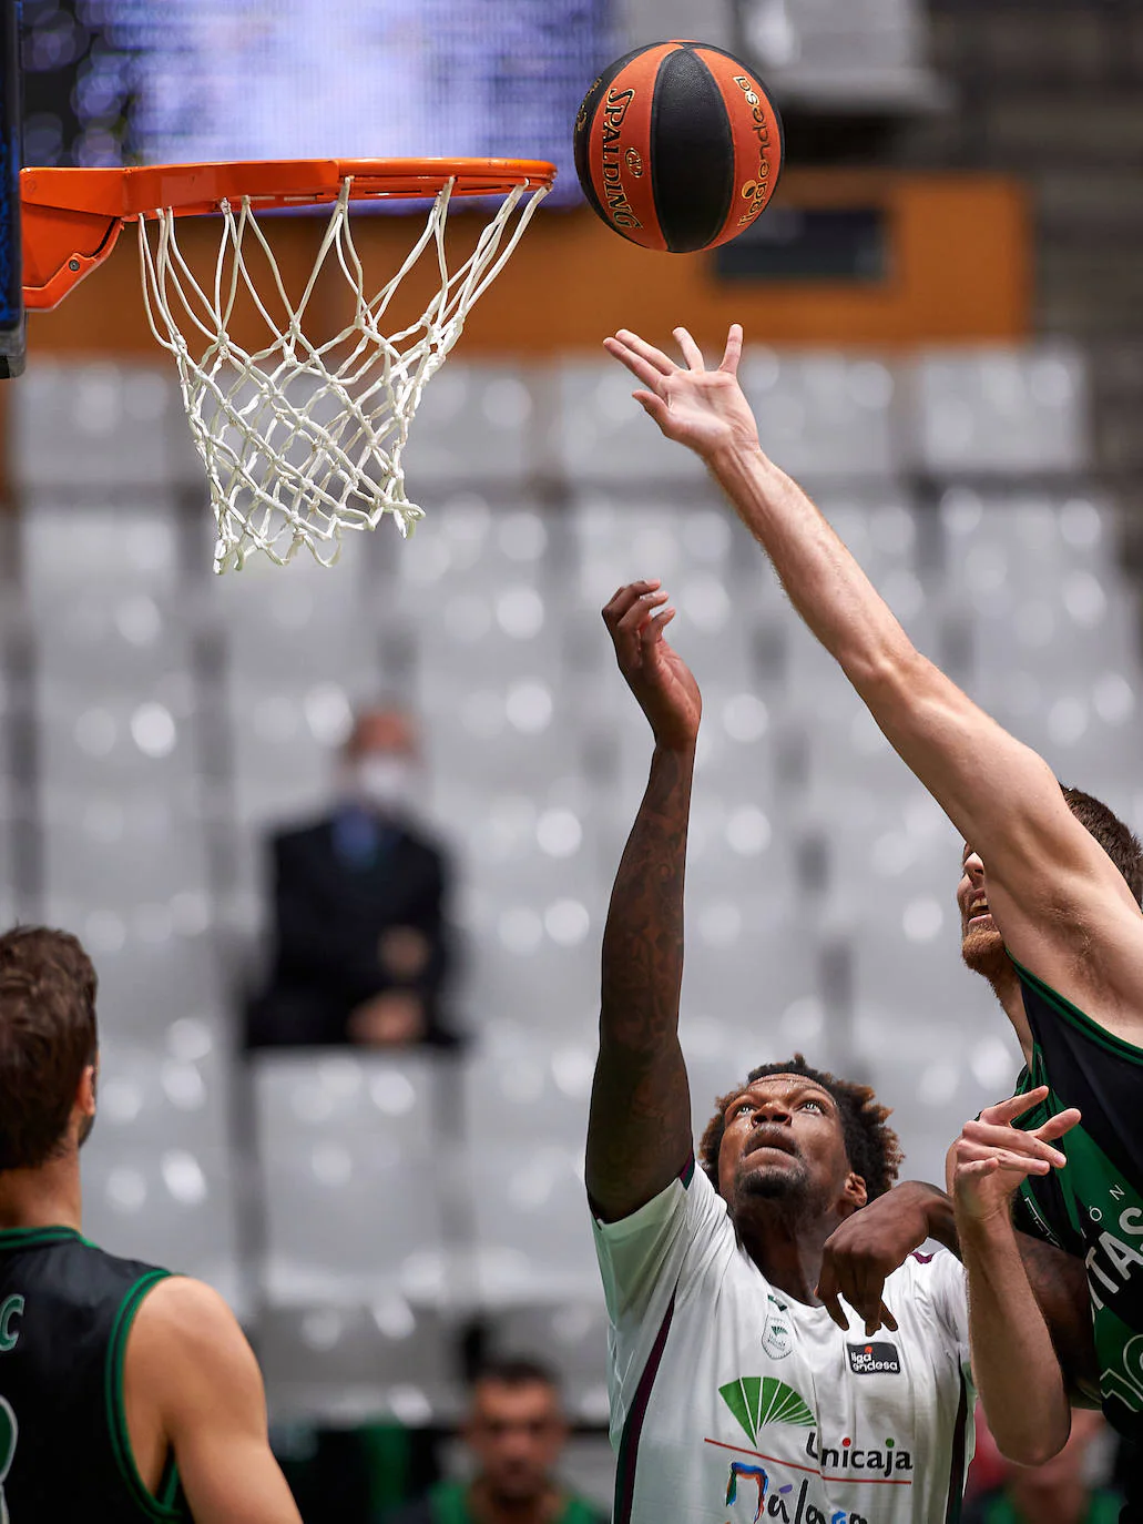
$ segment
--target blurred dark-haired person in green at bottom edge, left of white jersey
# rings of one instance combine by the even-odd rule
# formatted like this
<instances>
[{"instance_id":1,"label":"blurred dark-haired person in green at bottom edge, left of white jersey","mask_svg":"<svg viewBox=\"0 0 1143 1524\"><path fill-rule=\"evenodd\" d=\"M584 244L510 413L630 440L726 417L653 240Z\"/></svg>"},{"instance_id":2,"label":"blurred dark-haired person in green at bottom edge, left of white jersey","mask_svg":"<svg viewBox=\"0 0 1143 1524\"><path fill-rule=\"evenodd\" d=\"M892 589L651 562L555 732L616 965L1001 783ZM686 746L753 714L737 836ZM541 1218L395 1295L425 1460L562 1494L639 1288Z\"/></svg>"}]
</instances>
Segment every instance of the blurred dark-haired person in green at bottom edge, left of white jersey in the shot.
<instances>
[{"instance_id":1,"label":"blurred dark-haired person in green at bottom edge, left of white jersey","mask_svg":"<svg viewBox=\"0 0 1143 1524\"><path fill-rule=\"evenodd\" d=\"M389 1524L604 1524L558 1478L568 1425L556 1378L532 1359L486 1364L472 1381L462 1437L466 1481L440 1481Z\"/></svg>"}]
</instances>

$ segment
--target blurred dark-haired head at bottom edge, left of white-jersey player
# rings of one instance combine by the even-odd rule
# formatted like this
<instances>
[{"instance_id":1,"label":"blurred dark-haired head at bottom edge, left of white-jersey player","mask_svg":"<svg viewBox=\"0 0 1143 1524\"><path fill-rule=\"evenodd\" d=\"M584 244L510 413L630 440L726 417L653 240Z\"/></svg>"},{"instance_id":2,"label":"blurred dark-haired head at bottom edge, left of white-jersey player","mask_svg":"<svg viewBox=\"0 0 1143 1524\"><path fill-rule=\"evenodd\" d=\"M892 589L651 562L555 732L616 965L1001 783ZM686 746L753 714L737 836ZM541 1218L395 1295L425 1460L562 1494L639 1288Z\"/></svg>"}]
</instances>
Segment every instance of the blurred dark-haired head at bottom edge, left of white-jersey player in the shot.
<instances>
[{"instance_id":1,"label":"blurred dark-haired head at bottom edge, left of white-jersey player","mask_svg":"<svg viewBox=\"0 0 1143 1524\"><path fill-rule=\"evenodd\" d=\"M520 1506L553 1484L567 1442L556 1378L530 1359L485 1366L472 1382L463 1436L475 1483L501 1504Z\"/></svg>"}]
</instances>

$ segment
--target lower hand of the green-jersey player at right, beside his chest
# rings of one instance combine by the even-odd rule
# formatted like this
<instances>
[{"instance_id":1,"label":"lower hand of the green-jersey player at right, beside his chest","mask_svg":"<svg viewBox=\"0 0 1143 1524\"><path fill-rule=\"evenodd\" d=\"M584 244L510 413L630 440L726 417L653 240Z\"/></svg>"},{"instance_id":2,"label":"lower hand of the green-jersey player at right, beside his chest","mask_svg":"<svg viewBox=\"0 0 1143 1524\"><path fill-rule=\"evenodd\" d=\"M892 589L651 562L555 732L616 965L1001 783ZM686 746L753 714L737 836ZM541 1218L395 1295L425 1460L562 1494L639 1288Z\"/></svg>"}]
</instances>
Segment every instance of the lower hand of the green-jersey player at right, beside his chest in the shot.
<instances>
[{"instance_id":1,"label":"lower hand of the green-jersey player at right, beside his chest","mask_svg":"<svg viewBox=\"0 0 1143 1524\"><path fill-rule=\"evenodd\" d=\"M957 1216L971 1222L1007 1216L1012 1192L1021 1180L1047 1175L1050 1169L1067 1164L1067 1155L1052 1145L1074 1128L1079 1111L1061 1111L1029 1132L1012 1125L1017 1117L1045 1100L1047 1094L1047 1085L1041 1085L1026 1096L988 1106L975 1122L965 1123L952 1145L949 1169L949 1192Z\"/></svg>"}]
</instances>

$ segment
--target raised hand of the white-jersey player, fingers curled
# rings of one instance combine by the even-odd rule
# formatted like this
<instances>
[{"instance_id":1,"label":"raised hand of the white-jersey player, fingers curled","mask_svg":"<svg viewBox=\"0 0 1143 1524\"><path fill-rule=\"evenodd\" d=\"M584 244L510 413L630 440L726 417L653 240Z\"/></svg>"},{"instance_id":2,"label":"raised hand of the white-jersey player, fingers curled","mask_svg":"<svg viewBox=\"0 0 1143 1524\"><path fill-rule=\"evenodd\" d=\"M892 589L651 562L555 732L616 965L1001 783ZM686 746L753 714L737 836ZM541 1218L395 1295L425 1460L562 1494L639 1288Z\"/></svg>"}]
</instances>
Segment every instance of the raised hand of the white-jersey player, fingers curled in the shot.
<instances>
[{"instance_id":1,"label":"raised hand of the white-jersey player, fingers curled","mask_svg":"<svg viewBox=\"0 0 1143 1524\"><path fill-rule=\"evenodd\" d=\"M628 582L604 608L604 623L619 671L649 719L655 744L668 751L693 751L703 698L690 668L663 639L675 617L666 604L658 578Z\"/></svg>"}]
</instances>

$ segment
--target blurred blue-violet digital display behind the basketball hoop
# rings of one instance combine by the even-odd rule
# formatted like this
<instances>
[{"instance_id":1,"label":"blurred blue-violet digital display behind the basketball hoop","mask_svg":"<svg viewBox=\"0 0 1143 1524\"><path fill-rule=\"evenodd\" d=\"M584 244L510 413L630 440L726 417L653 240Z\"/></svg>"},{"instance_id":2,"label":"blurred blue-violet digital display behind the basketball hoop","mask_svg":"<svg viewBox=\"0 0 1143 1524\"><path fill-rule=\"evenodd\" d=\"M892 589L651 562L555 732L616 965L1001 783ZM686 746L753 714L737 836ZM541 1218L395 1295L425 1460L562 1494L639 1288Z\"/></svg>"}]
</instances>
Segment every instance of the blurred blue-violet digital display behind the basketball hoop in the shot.
<instances>
[{"instance_id":1,"label":"blurred blue-violet digital display behind the basketball hoop","mask_svg":"<svg viewBox=\"0 0 1143 1524\"><path fill-rule=\"evenodd\" d=\"M122 101L107 157L553 160L611 56L611 0L99 0L76 90ZM99 139L93 139L99 142ZM91 162L93 154L87 154Z\"/></svg>"}]
</instances>

